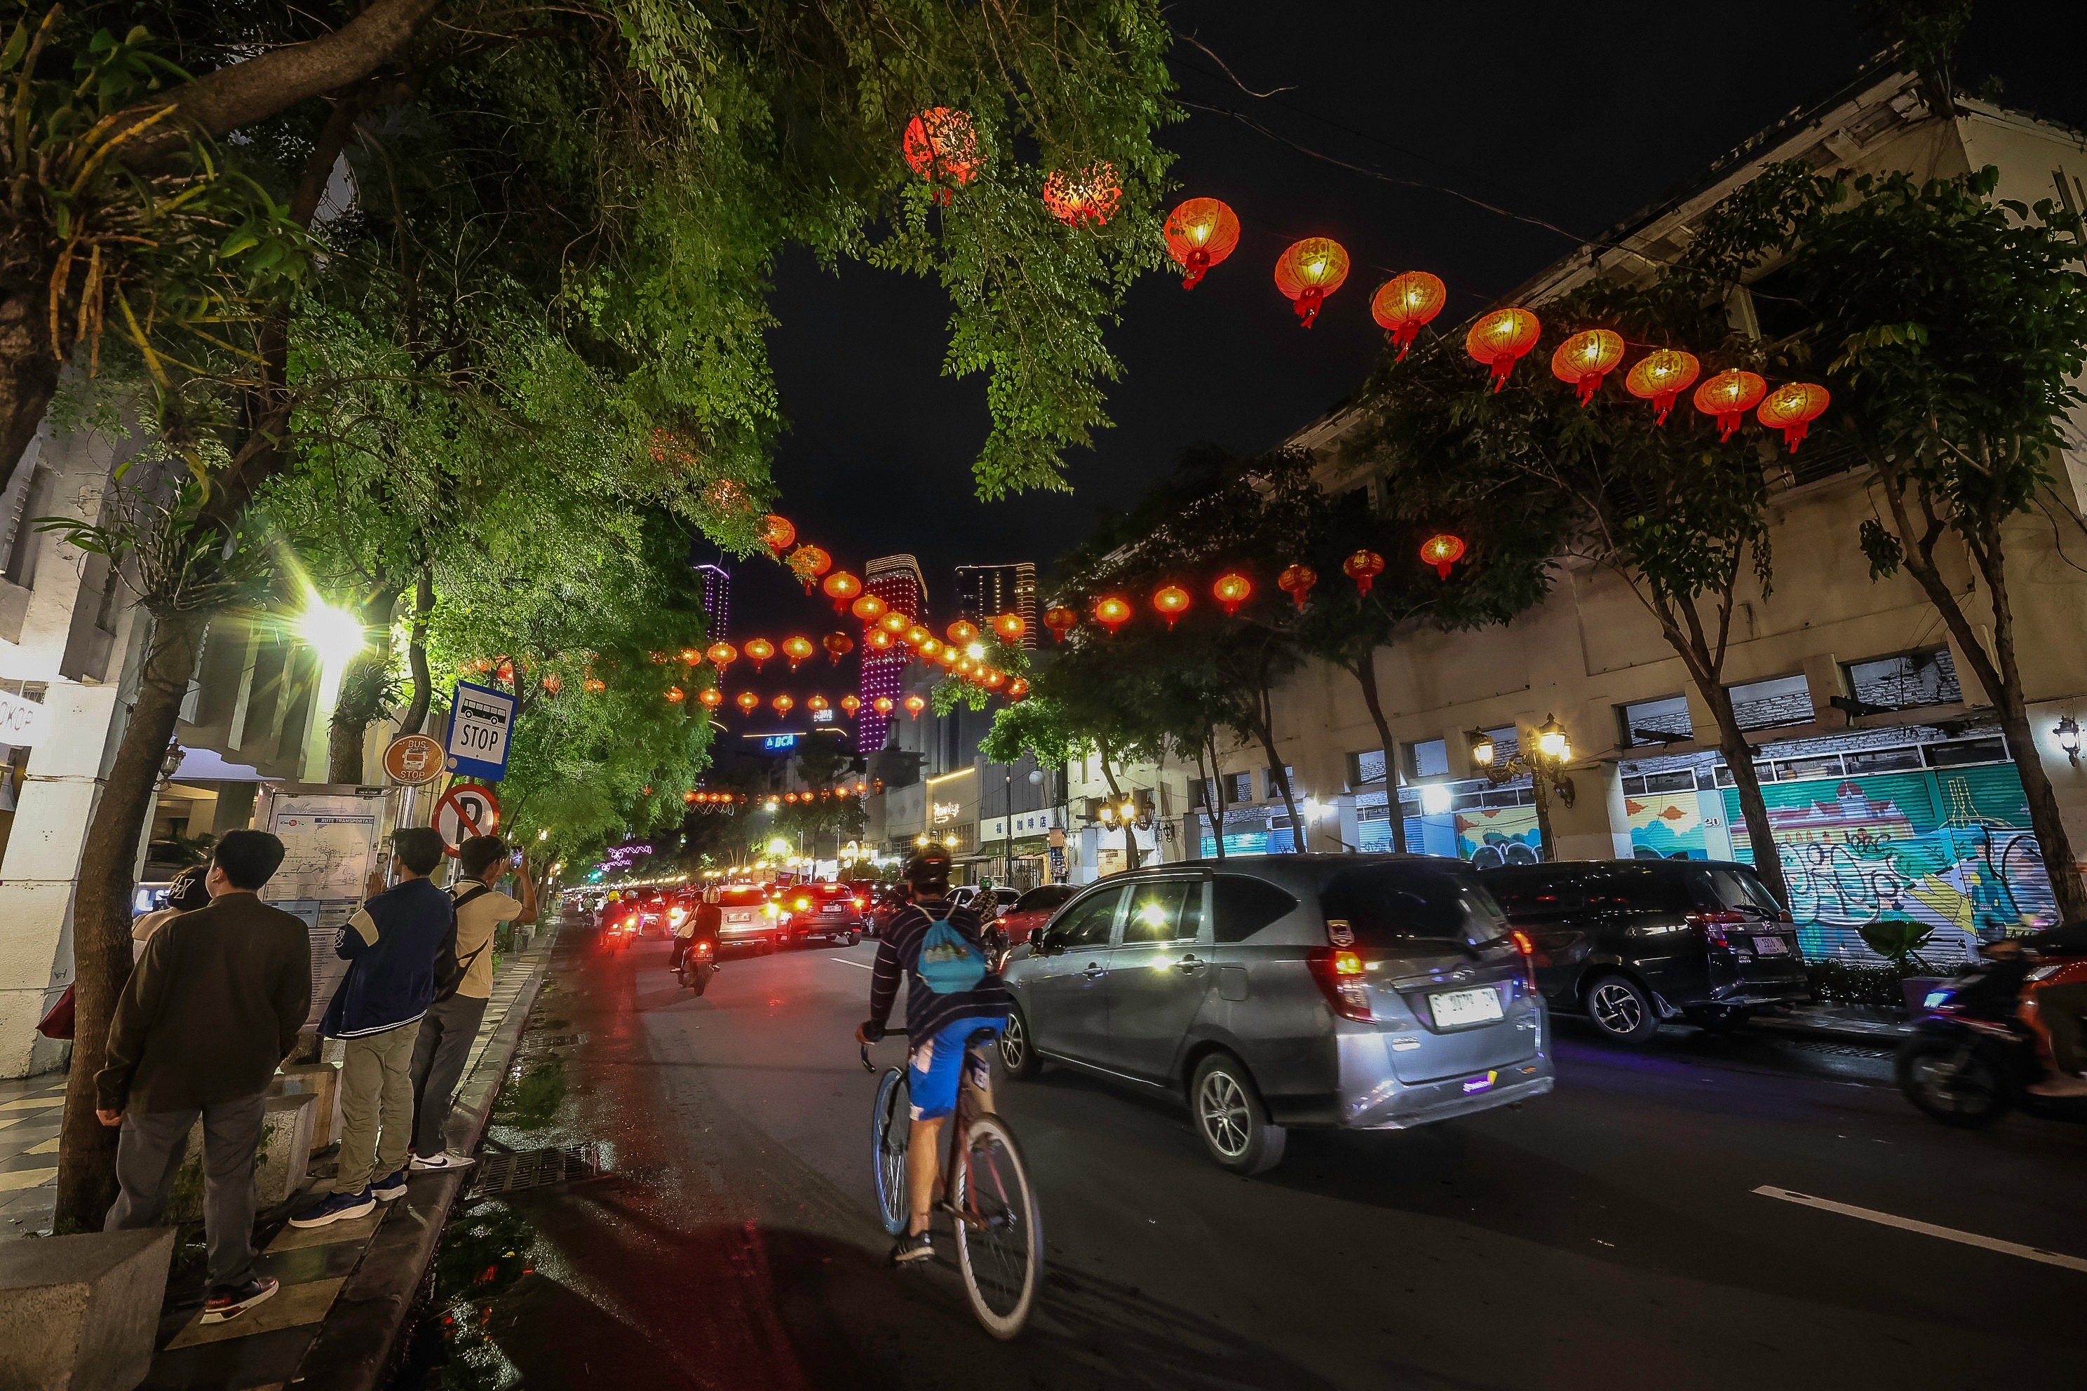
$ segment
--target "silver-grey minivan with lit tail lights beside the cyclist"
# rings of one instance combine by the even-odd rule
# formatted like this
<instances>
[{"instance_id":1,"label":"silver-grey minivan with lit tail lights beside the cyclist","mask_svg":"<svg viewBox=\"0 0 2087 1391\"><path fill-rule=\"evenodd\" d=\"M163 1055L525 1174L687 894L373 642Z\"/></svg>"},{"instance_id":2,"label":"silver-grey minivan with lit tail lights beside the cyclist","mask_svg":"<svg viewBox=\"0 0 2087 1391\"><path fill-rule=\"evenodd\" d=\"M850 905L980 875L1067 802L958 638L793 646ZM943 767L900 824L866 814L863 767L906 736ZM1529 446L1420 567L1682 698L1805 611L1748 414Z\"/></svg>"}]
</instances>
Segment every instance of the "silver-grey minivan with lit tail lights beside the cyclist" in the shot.
<instances>
[{"instance_id":1,"label":"silver-grey minivan with lit tail lights beside the cyclist","mask_svg":"<svg viewBox=\"0 0 2087 1391\"><path fill-rule=\"evenodd\" d=\"M1551 1091L1551 1028L1478 874L1423 855L1246 855L1110 876L1004 972L1010 1076L1183 1095L1256 1174L1290 1128L1398 1130Z\"/></svg>"}]
</instances>

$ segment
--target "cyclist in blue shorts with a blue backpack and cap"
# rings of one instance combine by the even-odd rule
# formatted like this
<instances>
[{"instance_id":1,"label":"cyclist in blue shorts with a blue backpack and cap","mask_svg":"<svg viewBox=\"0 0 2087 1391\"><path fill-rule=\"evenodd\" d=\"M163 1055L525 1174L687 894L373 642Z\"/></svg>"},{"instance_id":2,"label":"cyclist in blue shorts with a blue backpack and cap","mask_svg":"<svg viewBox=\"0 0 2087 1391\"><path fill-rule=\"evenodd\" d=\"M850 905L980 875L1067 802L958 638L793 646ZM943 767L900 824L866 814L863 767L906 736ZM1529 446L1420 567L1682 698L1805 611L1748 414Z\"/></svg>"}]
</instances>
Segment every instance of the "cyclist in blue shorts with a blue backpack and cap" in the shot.
<instances>
[{"instance_id":1,"label":"cyclist in blue shorts with a blue backpack and cap","mask_svg":"<svg viewBox=\"0 0 2087 1391\"><path fill-rule=\"evenodd\" d=\"M941 1122L956 1109L958 1084L991 1107L991 1064L977 1034L1006 1028L1008 991L989 968L979 938L979 916L950 903L950 855L920 851L906 865L912 903L897 909L877 938L877 970L870 976L870 1018L856 1028L858 1043L883 1039L891 1003L906 978L906 1032L910 1036L906 1082L912 1095L912 1134L906 1145L906 1189L912 1220L891 1247L893 1264L929 1260L935 1245L929 1224L935 1185L941 1180Z\"/></svg>"}]
</instances>

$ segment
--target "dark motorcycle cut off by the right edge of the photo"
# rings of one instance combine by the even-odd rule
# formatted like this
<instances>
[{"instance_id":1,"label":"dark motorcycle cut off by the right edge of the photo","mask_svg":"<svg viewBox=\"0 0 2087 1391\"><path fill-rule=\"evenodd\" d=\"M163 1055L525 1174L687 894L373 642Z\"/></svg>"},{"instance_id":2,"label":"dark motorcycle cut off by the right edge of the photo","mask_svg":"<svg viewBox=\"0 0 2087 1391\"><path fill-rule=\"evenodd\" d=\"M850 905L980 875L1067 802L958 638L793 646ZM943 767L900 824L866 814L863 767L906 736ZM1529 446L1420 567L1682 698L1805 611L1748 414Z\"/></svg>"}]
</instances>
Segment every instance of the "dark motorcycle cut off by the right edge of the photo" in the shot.
<instances>
[{"instance_id":1,"label":"dark motorcycle cut off by the right edge of the photo","mask_svg":"<svg viewBox=\"0 0 2087 1391\"><path fill-rule=\"evenodd\" d=\"M2031 986L2087 980L2087 957L1991 959L1926 997L1928 1014L1899 1045L1899 1091L1922 1116L1976 1130L2010 1109L2087 1122L2087 1099L2029 1091L2052 1074L2049 1034Z\"/></svg>"}]
</instances>

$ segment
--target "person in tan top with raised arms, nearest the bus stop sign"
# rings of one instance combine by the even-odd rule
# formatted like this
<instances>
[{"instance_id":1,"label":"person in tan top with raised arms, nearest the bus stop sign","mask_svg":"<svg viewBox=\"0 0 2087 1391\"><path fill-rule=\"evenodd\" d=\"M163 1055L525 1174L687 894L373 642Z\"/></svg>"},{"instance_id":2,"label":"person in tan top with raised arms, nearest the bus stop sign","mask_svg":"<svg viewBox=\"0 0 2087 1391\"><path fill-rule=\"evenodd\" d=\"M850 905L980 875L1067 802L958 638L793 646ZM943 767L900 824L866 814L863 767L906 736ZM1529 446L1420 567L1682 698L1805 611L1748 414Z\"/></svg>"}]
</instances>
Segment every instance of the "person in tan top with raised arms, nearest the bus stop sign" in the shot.
<instances>
[{"instance_id":1,"label":"person in tan top with raised arms, nearest the bus stop sign","mask_svg":"<svg viewBox=\"0 0 2087 1391\"><path fill-rule=\"evenodd\" d=\"M442 1126L493 997L493 932L503 922L536 922L536 882L526 863L520 901L495 888L507 874L505 840L472 836L457 847L457 868L463 872L451 888L457 930L440 957L434 1007L419 1022L419 1039L413 1041L413 1168L419 1170L472 1164L465 1155L449 1153Z\"/></svg>"}]
</instances>

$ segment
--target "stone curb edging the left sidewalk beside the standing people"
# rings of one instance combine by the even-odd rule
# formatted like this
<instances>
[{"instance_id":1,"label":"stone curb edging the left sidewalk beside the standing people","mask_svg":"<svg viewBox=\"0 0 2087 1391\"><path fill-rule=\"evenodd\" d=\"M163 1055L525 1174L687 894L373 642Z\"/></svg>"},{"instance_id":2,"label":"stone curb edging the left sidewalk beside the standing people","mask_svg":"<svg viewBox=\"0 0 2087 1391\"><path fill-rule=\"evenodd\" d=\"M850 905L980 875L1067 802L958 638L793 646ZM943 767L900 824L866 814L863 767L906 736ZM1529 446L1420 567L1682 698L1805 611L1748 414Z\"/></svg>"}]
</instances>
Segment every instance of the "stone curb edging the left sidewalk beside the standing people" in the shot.
<instances>
[{"instance_id":1,"label":"stone curb edging the left sidewalk beside the standing people","mask_svg":"<svg viewBox=\"0 0 2087 1391\"><path fill-rule=\"evenodd\" d=\"M499 1097L507 1066L522 1047L522 1030L536 1005L536 995L551 974L551 951L557 947L559 928L545 936L543 963L532 980L515 995L507 1018L493 1032L478 1066L457 1091L457 1103L465 1107L459 1126L455 1107L451 1109L449 1134L455 1149L470 1153L484 1134L493 1116L493 1101ZM384 1387L405 1353L401 1333L419 1308L422 1293L432 1280L434 1247L449 1224L449 1212L463 1193L472 1170L461 1174L413 1174L407 1180L407 1195L390 1207L384 1224L378 1226L355 1274L340 1287L334 1305L319 1324L319 1337L311 1341L298 1366L296 1383L305 1391L376 1391Z\"/></svg>"}]
</instances>

